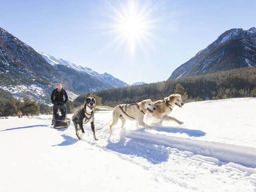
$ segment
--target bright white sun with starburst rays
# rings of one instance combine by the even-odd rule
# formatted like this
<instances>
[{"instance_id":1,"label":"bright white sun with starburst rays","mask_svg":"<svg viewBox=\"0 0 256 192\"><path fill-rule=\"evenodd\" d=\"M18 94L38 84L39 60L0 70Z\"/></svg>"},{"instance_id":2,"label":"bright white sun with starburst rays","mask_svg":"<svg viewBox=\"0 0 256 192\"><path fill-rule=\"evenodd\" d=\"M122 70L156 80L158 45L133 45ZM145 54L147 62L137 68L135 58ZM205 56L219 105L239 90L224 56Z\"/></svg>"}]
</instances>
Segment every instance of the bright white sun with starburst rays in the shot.
<instances>
[{"instance_id":1,"label":"bright white sun with starburst rays","mask_svg":"<svg viewBox=\"0 0 256 192\"><path fill-rule=\"evenodd\" d=\"M111 23L106 25L106 28L115 38L110 42L109 46L116 45L116 48L126 45L130 54L134 55L136 49L151 48L151 40L156 38L152 33L155 24L158 21L152 18L154 3L148 1L143 5L139 5L133 0L128 0L126 4L113 6L108 4L109 13L106 14L110 18Z\"/></svg>"}]
</instances>

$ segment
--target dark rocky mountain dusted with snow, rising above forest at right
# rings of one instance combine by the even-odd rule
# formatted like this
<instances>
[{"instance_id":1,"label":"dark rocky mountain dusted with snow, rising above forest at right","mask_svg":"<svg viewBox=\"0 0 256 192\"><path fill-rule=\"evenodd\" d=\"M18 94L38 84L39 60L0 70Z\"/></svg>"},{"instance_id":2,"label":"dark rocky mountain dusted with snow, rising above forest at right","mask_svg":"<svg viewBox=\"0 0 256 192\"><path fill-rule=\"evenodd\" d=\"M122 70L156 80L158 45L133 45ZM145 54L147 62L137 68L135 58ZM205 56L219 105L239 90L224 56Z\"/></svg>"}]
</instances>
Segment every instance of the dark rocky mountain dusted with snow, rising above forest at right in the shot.
<instances>
[{"instance_id":1,"label":"dark rocky mountain dusted with snow, rising above forest at right","mask_svg":"<svg viewBox=\"0 0 256 192\"><path fill-rule=\"evenodd\" d=\"M182 64L169 79L256 66L256 28L230 29Z\"/></svg>"}]
</instances>

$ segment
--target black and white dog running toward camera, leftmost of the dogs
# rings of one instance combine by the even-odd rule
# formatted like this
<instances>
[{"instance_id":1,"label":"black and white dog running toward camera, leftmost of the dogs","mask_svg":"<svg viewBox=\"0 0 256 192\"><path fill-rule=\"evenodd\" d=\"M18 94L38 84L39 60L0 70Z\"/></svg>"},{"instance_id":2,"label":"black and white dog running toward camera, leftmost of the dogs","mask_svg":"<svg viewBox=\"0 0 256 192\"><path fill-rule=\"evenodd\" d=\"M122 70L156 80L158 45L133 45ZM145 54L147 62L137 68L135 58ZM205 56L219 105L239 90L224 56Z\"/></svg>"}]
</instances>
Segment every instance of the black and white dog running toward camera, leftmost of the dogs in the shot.
<instances>
[{"instance_id":1,"label":"black and white dog running toward camera, leftmost of the dogs","mask_svg":"<svg viewBox=\"0 0 256 192\"><path fill-rule=\"evenodd\" d=\"M86 97L85 98L85 104L84 108L80 109L78 112L76 112L72 116L72 121L74 123L75 129L76 129L76 136L79 140L82 138L79 136L78 130L82 130L82 133L84 133L83 124L86 124L88 122L91 123L92 133L94 140L98 140L95 136L95 130L94 130L94 108L95 108L95 97ZM79 127L77 126L79 125Z\"/></svg>"}]
</instances>

